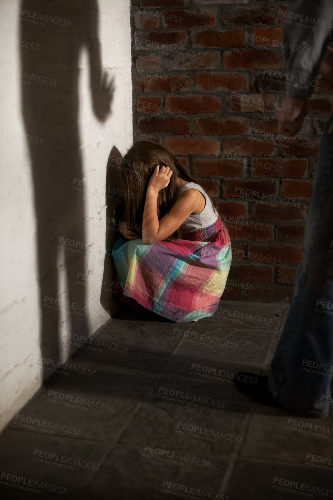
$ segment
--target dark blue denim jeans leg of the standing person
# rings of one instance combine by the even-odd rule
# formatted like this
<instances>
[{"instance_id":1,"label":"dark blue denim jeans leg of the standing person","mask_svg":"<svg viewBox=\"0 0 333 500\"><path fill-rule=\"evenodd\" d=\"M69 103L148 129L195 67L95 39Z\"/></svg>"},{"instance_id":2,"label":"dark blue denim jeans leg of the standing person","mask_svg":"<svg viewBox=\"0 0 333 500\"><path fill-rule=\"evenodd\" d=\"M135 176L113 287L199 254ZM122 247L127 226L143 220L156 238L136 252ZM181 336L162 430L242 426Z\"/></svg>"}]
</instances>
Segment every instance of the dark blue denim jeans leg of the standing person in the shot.
<instances>
[{"instance_id":1,"label":"dark blue denim jeans leg of the standing person","mask_svg":"<svg viewBox=\"0 0 333 500\"><path fill-rule=\"evenodd\" d=\"M333 376L333 114L323 133L285 326L268 387L288 410L325 417ZM327 398L327 400L326 400Z\"/></svg>"}]
</instances>

